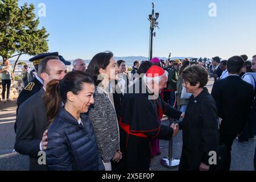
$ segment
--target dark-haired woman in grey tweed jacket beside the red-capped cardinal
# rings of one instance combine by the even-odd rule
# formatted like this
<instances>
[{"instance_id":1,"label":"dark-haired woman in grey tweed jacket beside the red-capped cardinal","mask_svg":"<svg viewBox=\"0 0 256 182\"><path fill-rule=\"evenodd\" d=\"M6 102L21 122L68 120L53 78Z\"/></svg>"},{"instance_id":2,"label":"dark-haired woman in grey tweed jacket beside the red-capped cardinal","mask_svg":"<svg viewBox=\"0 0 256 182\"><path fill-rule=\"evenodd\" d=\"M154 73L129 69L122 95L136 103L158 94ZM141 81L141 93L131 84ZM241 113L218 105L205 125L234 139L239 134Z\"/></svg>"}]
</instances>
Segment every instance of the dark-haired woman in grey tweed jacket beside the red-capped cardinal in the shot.
<instances>
[{"instance_id":1,"label":"dark-haired woman in grey tweed jacket beside the red-capped cardinal","mask_svg":"<svg viewBox=\"0 0 256 182\"><path fill-rule=\"evenodd\" d=\"M86 70L96 82L94 105L88 115L94 126L101 159L106 171L112 171L111 162L119 162L119 127L114 108L113 88L118 67L112 52L101 52L93 57Z\"/></svg>"}]
</instances>

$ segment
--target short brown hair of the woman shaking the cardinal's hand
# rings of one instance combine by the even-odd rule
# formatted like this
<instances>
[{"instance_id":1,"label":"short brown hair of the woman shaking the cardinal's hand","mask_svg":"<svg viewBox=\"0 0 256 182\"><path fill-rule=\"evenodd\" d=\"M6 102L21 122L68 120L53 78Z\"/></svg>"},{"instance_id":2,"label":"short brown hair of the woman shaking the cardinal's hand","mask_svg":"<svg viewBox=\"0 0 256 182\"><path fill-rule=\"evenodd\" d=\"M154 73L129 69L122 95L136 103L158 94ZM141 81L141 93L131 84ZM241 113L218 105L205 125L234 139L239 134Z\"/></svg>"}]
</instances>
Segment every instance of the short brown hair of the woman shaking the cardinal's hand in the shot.
<instances>
[{"instance_id":1,"label":"short brown hair of the woman shaking the cardinal's hand","mask_svg":"<svg viewBox=\"0 0 256 182\"><path fill-rule=\"evenodd\" d=\"M187 67L181 73L183 80L188 81L191 86L196 86L199 82L199 88L204 88L208 82L208 72L207 69L200 65L193 65L191 67Z\"/></svg>"}]
</instances>

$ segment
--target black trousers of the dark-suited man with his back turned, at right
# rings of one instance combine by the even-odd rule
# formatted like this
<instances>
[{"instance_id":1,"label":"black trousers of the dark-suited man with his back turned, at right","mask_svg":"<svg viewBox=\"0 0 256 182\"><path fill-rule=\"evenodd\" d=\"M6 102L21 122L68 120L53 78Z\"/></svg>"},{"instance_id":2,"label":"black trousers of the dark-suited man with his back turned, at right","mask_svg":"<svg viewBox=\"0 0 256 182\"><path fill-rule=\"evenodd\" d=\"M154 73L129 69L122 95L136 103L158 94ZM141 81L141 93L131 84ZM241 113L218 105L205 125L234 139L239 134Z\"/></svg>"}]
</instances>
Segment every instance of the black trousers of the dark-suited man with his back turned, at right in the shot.
<instances>
[{"instance_id":1,"label":"black trousers of the dark-suited man with his back turned, at right","mask_svg":"<svg viewBox=\"0 0 256 182\"><path fill-rule=\"evenodd\" d=\"M220 131L220 145L226 146L226 158L224 159L224 171L230 170L232 145L236 135L225 134Z\"/></svg>"}]
</instances>

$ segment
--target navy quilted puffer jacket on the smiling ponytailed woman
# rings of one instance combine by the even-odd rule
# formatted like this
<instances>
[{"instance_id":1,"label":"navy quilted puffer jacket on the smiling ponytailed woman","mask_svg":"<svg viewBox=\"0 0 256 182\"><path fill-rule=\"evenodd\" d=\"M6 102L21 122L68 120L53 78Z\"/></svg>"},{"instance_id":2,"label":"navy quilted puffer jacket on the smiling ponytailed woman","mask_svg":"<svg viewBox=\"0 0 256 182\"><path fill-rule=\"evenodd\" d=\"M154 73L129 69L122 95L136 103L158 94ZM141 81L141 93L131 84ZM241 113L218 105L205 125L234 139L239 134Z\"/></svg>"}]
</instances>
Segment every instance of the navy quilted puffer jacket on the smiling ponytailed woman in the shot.
<instances>
[{"instance_id":1,"label":"navy quilted puffer jacket on the smiling ponytailed woman","mask_svg":"<svg viewBox=\"0 0 256 182\"><path fill-rule=\"evenodd\" d=\"M46 163L54 171L105 170L93 125L86 114L81 114L81 124L61 108L48 130Z\"/></svg>"}]
</instances>

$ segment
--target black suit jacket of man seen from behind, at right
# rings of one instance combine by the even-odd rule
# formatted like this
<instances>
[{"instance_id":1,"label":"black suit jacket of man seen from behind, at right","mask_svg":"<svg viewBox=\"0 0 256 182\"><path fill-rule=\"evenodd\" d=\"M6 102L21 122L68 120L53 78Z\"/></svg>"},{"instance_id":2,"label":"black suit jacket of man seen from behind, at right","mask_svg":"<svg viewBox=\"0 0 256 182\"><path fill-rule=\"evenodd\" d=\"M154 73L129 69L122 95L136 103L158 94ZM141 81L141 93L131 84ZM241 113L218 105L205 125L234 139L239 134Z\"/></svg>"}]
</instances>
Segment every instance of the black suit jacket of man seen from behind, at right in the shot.
<instances>
[{"instance_id":1,"label":"black suit jacket of man seen from behind, at right","mask_svg":"<svg viewBox=\"0 0 256 182\"><path fill-rule=\"evenodd\" d=\"M212 96L217 103L218 115L222 118L221 132L241 134L249 117L253 86L239 76L228 76L214 83Z\"/></svg>"}]
</instances>

